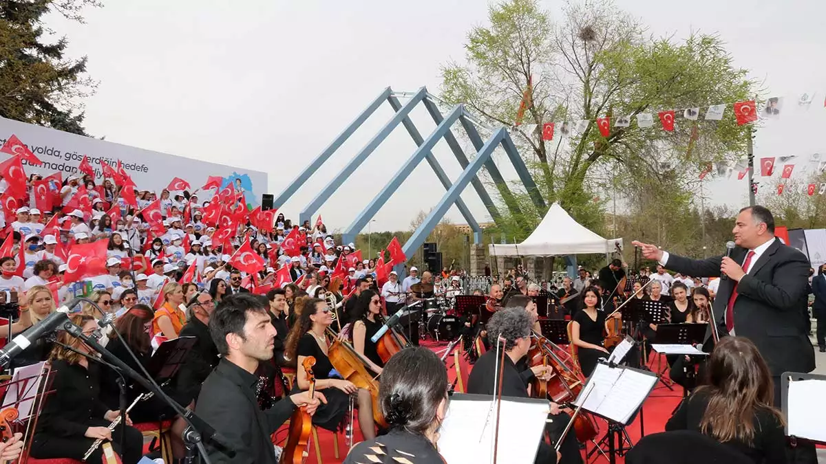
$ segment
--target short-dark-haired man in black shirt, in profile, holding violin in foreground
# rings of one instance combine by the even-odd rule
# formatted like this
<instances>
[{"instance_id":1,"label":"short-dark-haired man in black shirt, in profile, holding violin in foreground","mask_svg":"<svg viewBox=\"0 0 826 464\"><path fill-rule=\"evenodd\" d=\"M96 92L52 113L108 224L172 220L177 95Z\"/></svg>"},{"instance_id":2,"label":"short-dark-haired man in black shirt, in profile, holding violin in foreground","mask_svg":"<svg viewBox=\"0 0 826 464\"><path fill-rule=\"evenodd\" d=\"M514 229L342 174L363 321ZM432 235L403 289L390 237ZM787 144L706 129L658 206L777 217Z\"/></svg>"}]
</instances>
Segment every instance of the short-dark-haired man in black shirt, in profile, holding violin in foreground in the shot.
<instances>
[{"instance_id":1,"label":"short-dark-haired man in black shirt, in profile, holding violin in foreground","mask_svg":"<svg viewBox=\"0 0 826 464\"><path fill-rule=\"evenodd\" d=\"M273 357L275 328L263 296L242 294L226 296L209 321L212 341L221 362L207 377L198 396L195 412L225 438L225 448L207 441L212 462L276 464L278 462L270 435L284 424L296 406L305 406L314 414L326 399L316 391L302 391L280 400L262 411L255 386L259 362Z\"/></svg>"}]
</instances>

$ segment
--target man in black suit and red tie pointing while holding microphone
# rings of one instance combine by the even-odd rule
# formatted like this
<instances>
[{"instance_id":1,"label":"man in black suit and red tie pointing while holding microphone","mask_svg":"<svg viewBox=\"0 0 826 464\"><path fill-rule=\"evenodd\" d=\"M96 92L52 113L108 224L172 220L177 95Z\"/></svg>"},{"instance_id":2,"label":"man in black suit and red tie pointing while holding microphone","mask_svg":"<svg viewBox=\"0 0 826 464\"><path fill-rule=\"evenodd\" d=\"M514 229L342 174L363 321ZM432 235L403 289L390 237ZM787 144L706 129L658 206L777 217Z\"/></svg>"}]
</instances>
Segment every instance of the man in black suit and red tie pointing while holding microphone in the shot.
<instances>
[{"instance_id":1,"label":"man in black suit and red tie pointing while holding microphone","mask_svg":"<svg viewBox=\"0 0 826 464\"><path fill-rule=\"evenodd\" d=\"M656 245L634 242L643 257L672 271L696 277L718 277L712 306L720 336L750 339L766 359L780 406L783 372L814 370L814 349L803 315L808 299L809 260L774 235L774 217L763 206L740 210L734 223L731 258L691 259L669 254ZM706 333L710 343L711 327Z\"/></svg>"}]
</instances>

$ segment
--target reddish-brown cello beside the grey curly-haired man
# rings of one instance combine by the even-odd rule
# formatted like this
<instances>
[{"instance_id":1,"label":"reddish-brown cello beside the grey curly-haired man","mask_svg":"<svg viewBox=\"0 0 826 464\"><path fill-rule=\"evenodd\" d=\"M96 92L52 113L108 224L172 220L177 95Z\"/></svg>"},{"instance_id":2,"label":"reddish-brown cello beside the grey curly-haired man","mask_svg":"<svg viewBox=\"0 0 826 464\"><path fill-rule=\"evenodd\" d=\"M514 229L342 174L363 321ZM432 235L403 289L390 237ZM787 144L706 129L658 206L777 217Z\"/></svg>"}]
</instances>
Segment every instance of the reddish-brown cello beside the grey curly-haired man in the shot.
<instances>
[{"instance_id":1,"label":"reddish-brown cello beside the grey curly-haired man","mask_svg":"<svg viewBox=\"0 0 826 464\"><path fill-rule=\"evenodd\" d=\"M556 343L538 335L533 334L534 345L528 352L529 366L539 366L543 363L553 369L551 378L541 386L539 379L532 381L532 396L547 398L554 403L570 403L577 399L582 387L586 385L585 375L567 351L560 348ZM543 391L544 390L544 391ZM596 424L591 414L577 414L573 419L574 433L580 443L596 438L599 433L599 426Z\"/></svg>"}]
</instances>

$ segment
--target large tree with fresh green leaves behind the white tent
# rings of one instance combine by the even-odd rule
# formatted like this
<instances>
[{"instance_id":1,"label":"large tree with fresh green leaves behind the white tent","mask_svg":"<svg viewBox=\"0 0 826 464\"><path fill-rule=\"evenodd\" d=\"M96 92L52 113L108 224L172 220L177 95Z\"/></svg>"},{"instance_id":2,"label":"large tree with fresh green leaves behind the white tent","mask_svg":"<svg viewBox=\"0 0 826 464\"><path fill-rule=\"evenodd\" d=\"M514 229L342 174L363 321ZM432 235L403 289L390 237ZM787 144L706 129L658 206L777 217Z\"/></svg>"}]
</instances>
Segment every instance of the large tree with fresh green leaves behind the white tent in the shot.
<instances>
[{"instance_id":1,"label":"large tree with fresh green leaves behind the white tent","mask_svg":"<svg viewBox=\"0 0 826 464\"><path fill-rule=\"evenodd\" d=\"M743 152L747 129L736 124L730 110L722 121L684 120L680 112L673 131L656 122L641 129L633 120L641 113L751 96L746 71L733 66L719 37L645 36L643 25L610 0L569 3L559 24L536 0L506 0L490 8L489 20L468 33L466 63L443 66L442 98L463 102L492 124L510 126L529 89L525 123L539 127L516 127L515 143L548 203L558 201L582 225L604 224L594 192L617 176L642 183L676 176L676 194L686 197L686 180L696 175L695 168ZM618 116L629 116L630 125L615 125ZM607 136L596 126L599 117L610 118ZM570 129L577 121L587 123L563 142L560 124ZM557 123L550 141L542 140L546 122ZM664 162L679 168L662 169ZM535 211L529 201L519 204L534 217L503 211L501 227L517 239L529 232L526 222L537 223L545 212Z\"/></svg>"}]
</instances>

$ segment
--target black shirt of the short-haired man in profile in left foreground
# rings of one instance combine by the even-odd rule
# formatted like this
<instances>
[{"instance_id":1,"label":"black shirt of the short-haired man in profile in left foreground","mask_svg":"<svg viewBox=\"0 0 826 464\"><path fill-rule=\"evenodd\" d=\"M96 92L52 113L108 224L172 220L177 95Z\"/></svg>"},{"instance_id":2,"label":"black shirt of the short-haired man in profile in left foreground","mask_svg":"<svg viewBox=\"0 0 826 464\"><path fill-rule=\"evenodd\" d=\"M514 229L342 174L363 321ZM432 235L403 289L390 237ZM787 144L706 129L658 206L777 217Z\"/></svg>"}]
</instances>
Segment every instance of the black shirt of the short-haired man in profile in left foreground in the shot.
<instances>
[{"instance_id":1,"label":"black shirt of the short-haired man in profile in left foreground","mask_svg":"<svg viewBox=\"0 0 826 464\"><path fill-rule=\"evenodd\" d=\"M270 435L290 419L295 405L285 398L262 411L255 396L259 377L225 358L207 377L195 405L195 414L224 436L235 452L207 441L215 464L277 464Z\"/></svg>"}]
</instances>

